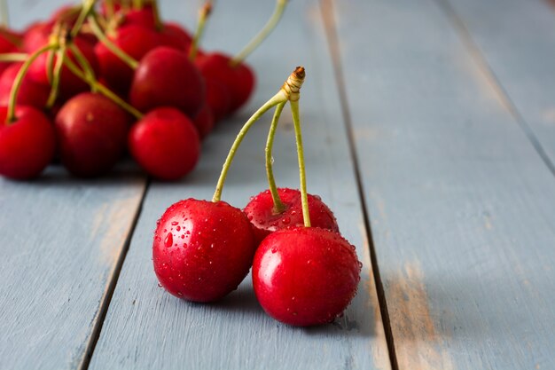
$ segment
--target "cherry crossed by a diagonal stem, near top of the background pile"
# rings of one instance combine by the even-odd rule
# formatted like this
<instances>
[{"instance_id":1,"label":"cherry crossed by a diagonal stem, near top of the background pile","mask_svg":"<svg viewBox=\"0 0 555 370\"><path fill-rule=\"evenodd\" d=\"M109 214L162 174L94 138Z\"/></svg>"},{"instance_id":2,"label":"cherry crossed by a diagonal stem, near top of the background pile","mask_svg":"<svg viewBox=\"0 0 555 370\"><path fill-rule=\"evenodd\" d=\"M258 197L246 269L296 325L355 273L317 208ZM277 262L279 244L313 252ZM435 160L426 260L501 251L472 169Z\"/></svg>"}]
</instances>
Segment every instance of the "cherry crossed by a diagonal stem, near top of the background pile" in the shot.
<instances>
[{"instance_id":1,"label":"cherry crossed by a diagonal stem, near top of the background pile","mask_svg":"<svg viewBox=\"0 0 555 370\"><path fill-rule=\"evenodd\" d=\"M109 38L122 51L136 60L142 59L148 51L159 44L158 35L154 31L137 25L118 28L115 34L110 35ZM100 73L108 86L127 97L129 86L133 80L133 69L106 48L104 43L97 43L94 51L100 66Z\"/></svg>"}]
</instances>

